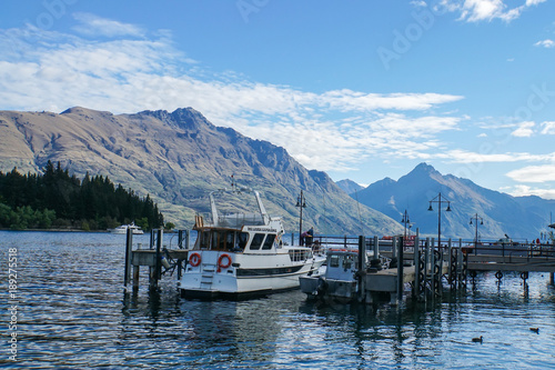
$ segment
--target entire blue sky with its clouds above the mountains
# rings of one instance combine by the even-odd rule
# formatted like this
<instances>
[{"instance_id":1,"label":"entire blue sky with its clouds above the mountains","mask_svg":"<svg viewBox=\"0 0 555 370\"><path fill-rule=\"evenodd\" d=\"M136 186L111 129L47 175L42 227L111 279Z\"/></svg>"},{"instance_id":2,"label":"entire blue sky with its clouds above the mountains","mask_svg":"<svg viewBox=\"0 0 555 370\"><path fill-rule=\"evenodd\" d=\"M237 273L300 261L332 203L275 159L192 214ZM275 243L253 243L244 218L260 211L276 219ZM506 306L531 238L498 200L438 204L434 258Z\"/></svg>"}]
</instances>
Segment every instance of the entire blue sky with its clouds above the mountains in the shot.
<instances>
[{"instance_id":1,"label":"entire blue sky with its clouds above the mountains","mask_svg":"<svg viewBox=\"0 0 555 370\"><path fill-rule=\"evenodd\" d=\"M367 186L555 199L554 0L3 1L0 110L191 107Z\"/></svg>"}]
</instances>

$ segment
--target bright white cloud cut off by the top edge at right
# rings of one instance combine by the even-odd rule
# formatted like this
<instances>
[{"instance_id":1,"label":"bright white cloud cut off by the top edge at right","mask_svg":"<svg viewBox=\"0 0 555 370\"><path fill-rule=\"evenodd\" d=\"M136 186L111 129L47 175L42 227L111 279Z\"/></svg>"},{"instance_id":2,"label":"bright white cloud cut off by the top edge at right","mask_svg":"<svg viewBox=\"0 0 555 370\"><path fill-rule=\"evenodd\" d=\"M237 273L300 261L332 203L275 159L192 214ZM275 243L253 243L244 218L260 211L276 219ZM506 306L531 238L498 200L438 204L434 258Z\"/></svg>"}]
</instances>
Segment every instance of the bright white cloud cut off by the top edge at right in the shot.
<instances>
[{"instance_id":1,"label":"bright white cloud cut off by the top edge at right","mask_svg":"<svg viewBox=\"0 0 555 370\"><path fill-rule=\"evenodd\" d=\"M532 6L546 0L526 0L523 4L508 8L503 0L442 0L441 4L448 11L458 12L460 20L467 22L491 21L501 19L506 22L521 17Z\"/></svg>"}]
</instances>

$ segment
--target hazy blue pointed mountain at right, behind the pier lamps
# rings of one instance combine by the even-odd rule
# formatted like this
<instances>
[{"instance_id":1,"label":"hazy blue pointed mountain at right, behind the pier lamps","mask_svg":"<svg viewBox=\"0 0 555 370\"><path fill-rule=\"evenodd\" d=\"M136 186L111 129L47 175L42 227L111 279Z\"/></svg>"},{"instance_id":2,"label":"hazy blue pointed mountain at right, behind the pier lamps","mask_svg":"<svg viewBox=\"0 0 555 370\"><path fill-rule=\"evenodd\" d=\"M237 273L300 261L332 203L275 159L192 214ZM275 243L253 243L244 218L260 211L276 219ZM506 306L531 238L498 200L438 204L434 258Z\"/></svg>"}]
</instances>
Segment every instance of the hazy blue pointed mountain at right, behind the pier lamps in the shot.
<instances>
[{"instance_id":1,"label":"hazy blue pointed mountain at right, behind the pier lamps","mask_svg":"<svg viewBox=\"0 0 555 370\"><path fill-rule=\"evenodd\" d=\"M405 210L408 212L412 231L437 234L438 203L430 201L438 193L451 201L451 212L442 204L442 236L473 239L475 224L470 224L476 213L483 218L478 233L484 239L511 238L536 239L545 232L549 223L549 212L555 210L554 200L538 197L512 197L498 191L482 188L467 179L452 174L443 176L432 166L421 163L398 181L385 178L359 191L361 203L379 210L401 221ZM353 194L351 194L353 197ZM354 198L354 197L353 197Z\"/></svg>"}]
</instances>

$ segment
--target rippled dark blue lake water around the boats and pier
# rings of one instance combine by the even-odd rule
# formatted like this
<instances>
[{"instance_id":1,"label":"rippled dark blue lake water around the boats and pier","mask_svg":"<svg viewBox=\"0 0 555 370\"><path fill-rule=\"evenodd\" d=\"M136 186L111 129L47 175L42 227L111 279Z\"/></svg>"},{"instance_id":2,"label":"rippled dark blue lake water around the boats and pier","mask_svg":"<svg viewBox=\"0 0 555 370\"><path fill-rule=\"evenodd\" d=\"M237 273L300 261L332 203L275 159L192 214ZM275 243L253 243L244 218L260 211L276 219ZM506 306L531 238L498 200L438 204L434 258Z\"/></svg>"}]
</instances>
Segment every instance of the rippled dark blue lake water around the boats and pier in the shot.
<instances>
[{"instance_id":1,"label":"rippled dark blue lake water around the boats and pier","mask_svg":"<svg viewBox=\"0 0 555 370\"><path fill-rule=\"evenodd\" d=\"M0 231L0 367L555 368L555 290L547 273L531 273L528 289L516 273L501 284L488 273L466 294L433 303L349 307L310 302L300 291L240 302L184 300L169 277L160 293L149 293L143 268L139 293L125 297L124 242L125 236L108 233ZM12 297L10 256L18 262ZM472 342L480 336L482 343Z\"/></svg>"}]
</instances>

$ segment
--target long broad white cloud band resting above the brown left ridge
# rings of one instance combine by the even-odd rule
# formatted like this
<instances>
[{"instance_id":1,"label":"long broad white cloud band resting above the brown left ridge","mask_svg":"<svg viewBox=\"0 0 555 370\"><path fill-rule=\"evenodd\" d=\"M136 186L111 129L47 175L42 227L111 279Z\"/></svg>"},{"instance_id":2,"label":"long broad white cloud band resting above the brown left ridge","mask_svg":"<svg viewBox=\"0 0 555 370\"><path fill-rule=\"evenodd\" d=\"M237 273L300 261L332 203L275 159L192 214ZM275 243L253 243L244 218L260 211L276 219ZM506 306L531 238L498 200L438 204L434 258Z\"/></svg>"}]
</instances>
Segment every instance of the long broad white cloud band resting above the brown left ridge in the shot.
<instances>
[{"instance_id":1,"label":"long broad white cloud band resting above the brown left ridge","mask_svg":"<svg viewBox=\"0 0 555 370\"><path fill-rule=\"evenodd\" d=\"M186 58L172 44L168 34L99 42L32 27L0 31L0 48L13 47L0 54L0 101L14 110L58 112L74 106L114 113L193 107L214 124L282 146L321 170L350 168L369 156L430 158L441 147L437 134L457 130L462 119L427 112L460 96L315 93L213 76L183 64Z\"/></svg>"}]
</instances>

